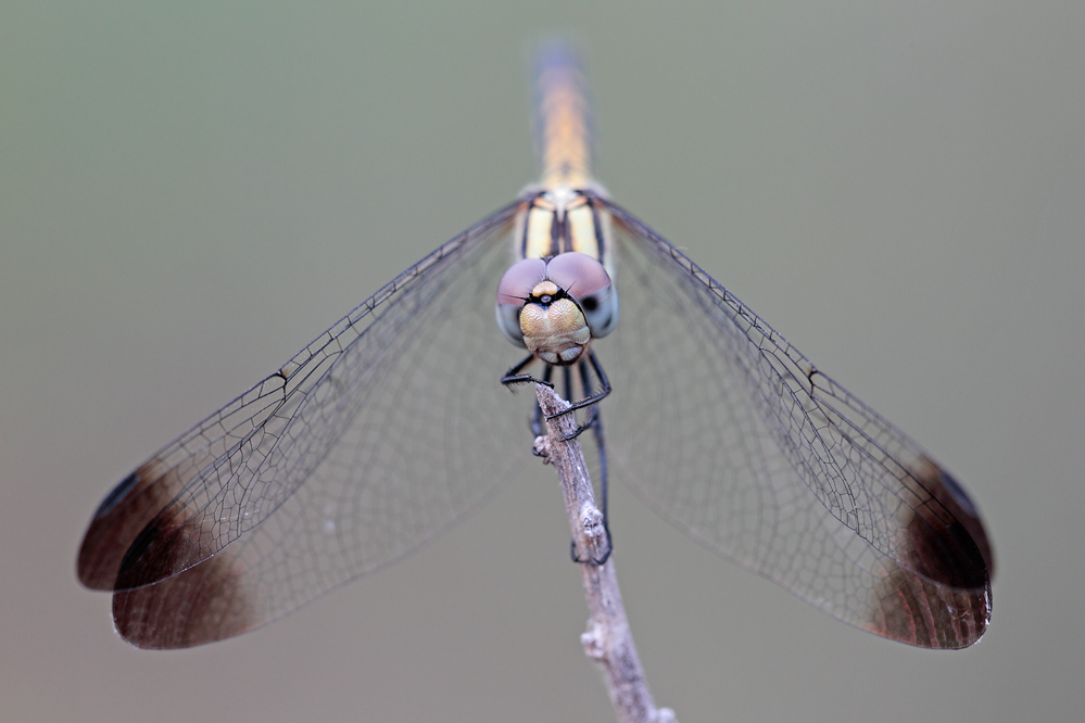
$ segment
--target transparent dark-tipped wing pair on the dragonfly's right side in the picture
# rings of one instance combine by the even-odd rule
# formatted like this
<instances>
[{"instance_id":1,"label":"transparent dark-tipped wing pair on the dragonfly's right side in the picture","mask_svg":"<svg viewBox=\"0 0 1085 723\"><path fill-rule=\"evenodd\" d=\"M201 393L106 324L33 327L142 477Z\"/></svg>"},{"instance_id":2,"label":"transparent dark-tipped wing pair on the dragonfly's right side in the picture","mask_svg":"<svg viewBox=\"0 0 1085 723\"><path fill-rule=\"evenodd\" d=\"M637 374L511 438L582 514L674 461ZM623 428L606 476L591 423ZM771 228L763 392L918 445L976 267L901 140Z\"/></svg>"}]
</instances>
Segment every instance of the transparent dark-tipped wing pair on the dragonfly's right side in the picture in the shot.
<instances>
[{"instance_id":1,"label":"transparent dark-tipped wing pair on the dragonfly's right side in the picture","mask_svg":"<svg viewBox=\"0 0 1085 723\"><path fill-rule=\"evenodd\" d=\"M932 648L979 639L993 558L960 485L674 246L611 213L621 321L598 353L614 475L847 623Z\"/></svg>"}]
</instances>

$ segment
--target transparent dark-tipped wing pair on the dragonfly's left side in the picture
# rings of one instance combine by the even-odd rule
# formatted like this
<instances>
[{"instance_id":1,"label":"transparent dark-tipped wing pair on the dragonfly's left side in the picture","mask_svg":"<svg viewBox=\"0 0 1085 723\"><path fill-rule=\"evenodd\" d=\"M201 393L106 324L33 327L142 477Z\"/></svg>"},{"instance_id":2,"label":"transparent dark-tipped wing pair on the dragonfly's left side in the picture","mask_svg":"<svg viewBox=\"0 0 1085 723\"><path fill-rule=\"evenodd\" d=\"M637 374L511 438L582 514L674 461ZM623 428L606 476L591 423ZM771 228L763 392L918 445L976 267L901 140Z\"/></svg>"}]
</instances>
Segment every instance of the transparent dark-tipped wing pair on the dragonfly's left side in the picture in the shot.
<instances>
[{"instance_id":1,"label":"transparent dark-tipped wing pair on the dragonfly's left side in the picture","mask_svg":"<svg viewBox=\"0 0 1085 723\"><path fill-rule=\"evenodd\" d=\"M411 267L105 498L79 576L121 634L185 647L395 560L529 456L493 318L515 204Z\"/></svg>"}]
</instances>

